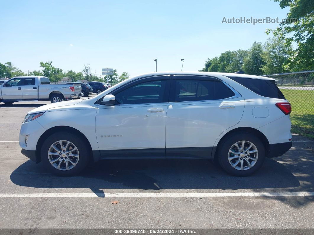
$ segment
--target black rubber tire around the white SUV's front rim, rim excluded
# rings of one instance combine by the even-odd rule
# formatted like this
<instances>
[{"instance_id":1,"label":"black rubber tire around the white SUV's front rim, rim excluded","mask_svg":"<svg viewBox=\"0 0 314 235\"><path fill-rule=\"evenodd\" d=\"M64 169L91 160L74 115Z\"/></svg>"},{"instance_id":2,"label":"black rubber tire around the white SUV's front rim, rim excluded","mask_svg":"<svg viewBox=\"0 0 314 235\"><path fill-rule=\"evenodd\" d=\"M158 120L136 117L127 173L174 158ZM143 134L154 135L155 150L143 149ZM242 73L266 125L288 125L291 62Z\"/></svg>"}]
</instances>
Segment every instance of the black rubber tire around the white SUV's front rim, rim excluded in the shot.
<instances>
[{"instance_id":1,"label":"black rubber tire around the white SUV's front rim, rim excluded","mask_svg":"<svg viewBox=\"0 0 314 235\"><path fill-rule=\"evenodd\" d=\"M69 141L73 143L78 149L78 152L76 152L79 154L77 164L68 170L60 170L60 169L55 168L50 163L49 158L48 158L48 152L50 150L51 145L61 140ZM58 158L57 155L53 155L52 157L54 157L55 159ZM62 160L62 163L61 163L61 166L63 169L66 167L66 164L65 164L66 157L67 157L66 155L63 157L64 159ZM55 174L55 175L59 175L59 176L76 175L80 173L81 171L83 171L88 166L89 159L90 159L90 151L87 144L84 142L84 140L80 136L77 136L69 132L60 131L60 132L56 132L52 134L51 136L46 138L46 140L44 141L41 147L41 161L43 165L45 166L45 168L47 168L52 174ZM55 164L58 164L58 163L60 162L58 161ZM71 163L69 163L69 165L72 166Z\"/></svg>"}]
</instances>

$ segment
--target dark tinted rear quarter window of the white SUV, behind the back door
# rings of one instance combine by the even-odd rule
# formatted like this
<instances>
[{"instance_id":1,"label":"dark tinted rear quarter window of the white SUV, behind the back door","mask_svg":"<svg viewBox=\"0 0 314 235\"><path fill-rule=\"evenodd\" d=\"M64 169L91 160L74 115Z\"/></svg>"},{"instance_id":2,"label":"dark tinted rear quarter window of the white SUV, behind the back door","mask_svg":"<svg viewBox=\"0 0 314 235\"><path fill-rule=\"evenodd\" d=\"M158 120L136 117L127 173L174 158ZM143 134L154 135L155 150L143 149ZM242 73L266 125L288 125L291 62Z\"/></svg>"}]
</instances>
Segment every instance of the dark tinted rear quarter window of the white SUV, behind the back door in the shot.
<instances>
[{"instance_id":1,"label":"dark tinted rear quarter window of the white SUV, behind the back door","mask_svg":"<svg viewBox=\"0 0 314 235\"><path fill-rule=\"evenodd\" d=\"M255 79L247 77L229 77L229 78L236 81L237 83L240 83L242 86L245 86L252 92L257 93L258 95L269 98L285 99L284 94L276 86L275 80Z\"/></svg>"}]
</instances>

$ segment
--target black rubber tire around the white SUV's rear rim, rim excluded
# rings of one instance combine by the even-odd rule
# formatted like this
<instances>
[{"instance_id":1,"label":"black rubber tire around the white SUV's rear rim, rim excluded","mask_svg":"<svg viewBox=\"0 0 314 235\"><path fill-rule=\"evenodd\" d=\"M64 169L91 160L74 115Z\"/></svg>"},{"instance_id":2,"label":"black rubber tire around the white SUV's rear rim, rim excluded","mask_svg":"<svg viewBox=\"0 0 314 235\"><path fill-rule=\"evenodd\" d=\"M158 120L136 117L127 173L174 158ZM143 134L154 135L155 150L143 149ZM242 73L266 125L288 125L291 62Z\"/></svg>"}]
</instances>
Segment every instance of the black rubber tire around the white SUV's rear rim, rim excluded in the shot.
<instances>
[{"instance_id":1,"label":"black rubber tire around the white SUV's rear rim, rim excluded","mask_svg":"<svg viewBox=\"0 0 314 235\"><path fill-rule=\"evenodd\" d=\"M238 132L238 133L234 133L234 134L231 134L229 136L224 137L224 139L222 141L223 142L219 146L217 153L218 153L219 163L220 163L221 167L227 173L229 173L231 175L235 175L235 176L248 176L248 175L255 173L259 168L262 167L264 160L265 160L265 147L263 145L263 142L257 136L255 136L251 133L247 133L247 132ZM231 164L228 160L230 148L232 146L234 146L235 143L240 142L240 141L247 141L244 144L245 145L244 150L245 150L245 148L248 148L248 145L249 145L248 142L251 142L252 144L255 145L257 152L258 152L257 161L254 161L255 163L252 165L251 168L249 168L247 160L250 163L253 163L253 161L247 157L244 157L244 158L239 157L239 158L235 158L235 159L231 160L231 163L234 163L234 164L236 164L238 159L241 159L240 161L243 160L242 166L243 166L243 168L247 168L245 170L240 170L240 169L234 168L233 166L231 166ZM240 143L240 146L241 146L241 143ZM241 148L242 148L242 146L241 146ZM253 150L253 148L251 148L251 151L252 150ZM241 152L241 150L240 150L240 152ZM232 157L232 156L237 157L234 154L230 155L230 157ZM256 157L256 155L254 153L252 153L252 155L249 155L249 156L251 156L252 158ZM241 168L241 162L238 163L236 165L236 167Z\"/></svg>"}]
</instances>

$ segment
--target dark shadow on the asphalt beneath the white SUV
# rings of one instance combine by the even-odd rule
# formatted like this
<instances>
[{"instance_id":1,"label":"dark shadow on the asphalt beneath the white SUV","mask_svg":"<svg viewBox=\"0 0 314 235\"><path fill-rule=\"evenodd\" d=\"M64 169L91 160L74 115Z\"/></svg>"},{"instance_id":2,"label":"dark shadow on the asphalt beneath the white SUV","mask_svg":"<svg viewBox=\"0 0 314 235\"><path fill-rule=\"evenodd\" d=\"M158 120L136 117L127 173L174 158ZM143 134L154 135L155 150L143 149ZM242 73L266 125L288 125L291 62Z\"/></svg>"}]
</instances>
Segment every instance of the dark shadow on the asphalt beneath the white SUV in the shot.
<instances>
[{"instance_id":1,"label":"dark shadow on the asphalt beneath the white SUV","mask_svg":"<svg viewBox=\"0 0 314 235\"><path fill-rule=\"evenodd\" d=\"M264 189L300 186L291 171L273 159L266 159L249 177L230 176L208 160L194 159L103 160L78 176L58 177L47 173L41 163L29 160L16 168L10 179L33 188L89 188L100 197L106 189L267 191Z\"/></svg>"}]
</instances>

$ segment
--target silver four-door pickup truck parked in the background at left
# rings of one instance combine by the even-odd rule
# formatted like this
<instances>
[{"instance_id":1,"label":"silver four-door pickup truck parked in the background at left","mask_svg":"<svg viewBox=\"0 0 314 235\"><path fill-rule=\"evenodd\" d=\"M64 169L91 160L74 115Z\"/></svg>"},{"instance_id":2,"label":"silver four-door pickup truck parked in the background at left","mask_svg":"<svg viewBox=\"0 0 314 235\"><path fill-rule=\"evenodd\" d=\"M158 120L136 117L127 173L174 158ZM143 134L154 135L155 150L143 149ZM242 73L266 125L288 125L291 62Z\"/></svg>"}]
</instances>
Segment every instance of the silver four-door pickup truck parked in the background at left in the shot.
<instances>
[{"instance_id":1,"label":"silver four-door pickup truck parked in the background at left","mask_svg":"<svg viewBox=\"0 0 314 235\"><path fill-rule=\"evenodd\" d=\"M0 84L0 102L13 104L16 101L80 99L84 94L80 84L50 84L48 77L13 77Z\"/></svg>"}]
</instances>

